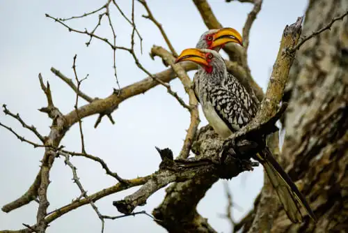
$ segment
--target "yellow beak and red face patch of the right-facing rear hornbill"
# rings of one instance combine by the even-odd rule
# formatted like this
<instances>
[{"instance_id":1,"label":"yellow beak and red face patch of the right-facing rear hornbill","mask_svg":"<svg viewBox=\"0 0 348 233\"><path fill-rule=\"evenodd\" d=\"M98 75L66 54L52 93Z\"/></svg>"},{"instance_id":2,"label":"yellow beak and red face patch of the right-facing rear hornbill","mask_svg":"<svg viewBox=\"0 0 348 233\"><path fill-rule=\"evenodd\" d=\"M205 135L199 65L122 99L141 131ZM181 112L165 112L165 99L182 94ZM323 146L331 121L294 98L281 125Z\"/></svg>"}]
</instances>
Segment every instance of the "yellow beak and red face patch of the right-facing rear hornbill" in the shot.
<instances>
[{"instance_id":1,"label":"yellow beak and red face patch of the right-facing rear hornbill","mask_svg":"<svg viewBox=\"0 0 348 233\"><path fill-rule=\"evenodd\" d=\"M205 42L209 50L219 51L227 43L237 43L243 46L241 34L230 27L219 29L216 33L210 33L205 36Z\"/></svg>"}]
</instances>

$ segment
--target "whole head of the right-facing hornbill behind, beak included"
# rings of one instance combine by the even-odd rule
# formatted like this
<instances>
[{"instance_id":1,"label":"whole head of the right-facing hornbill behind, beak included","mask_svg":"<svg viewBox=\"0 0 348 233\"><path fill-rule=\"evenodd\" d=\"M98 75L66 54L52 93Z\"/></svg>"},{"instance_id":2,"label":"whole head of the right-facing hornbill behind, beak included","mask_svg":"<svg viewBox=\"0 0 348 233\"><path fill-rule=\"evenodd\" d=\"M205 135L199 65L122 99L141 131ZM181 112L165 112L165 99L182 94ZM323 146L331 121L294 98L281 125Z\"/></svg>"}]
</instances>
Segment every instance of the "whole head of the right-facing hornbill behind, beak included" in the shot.
<instances>
[{"instance_id":1,"label":"whole head of the right-facing hornbill behind, beak included","mask_svg":"<svg viewBox=\"0 0 348 233\"><path fill-rule=\"evenodd\" d=\"M219 52L226 43L237 43L243 46L241 34L230 27L211 29L200 36L196 48L215 50Z\"/></svg>"}]
</instances>

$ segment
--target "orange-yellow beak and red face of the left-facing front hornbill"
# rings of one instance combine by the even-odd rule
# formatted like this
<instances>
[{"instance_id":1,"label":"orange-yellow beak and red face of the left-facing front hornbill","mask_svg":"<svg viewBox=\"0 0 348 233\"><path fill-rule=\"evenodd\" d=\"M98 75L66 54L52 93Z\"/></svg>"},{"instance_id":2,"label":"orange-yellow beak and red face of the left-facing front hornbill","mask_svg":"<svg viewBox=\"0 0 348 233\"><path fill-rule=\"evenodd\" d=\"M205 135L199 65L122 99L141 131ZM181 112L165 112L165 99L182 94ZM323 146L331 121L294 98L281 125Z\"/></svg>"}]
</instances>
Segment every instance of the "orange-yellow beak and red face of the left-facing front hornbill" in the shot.
<instances>
[{"instance_id":1,"label":"orange-yellow beak and red face of the left-facing front hornbill","mask_svg":"<svg viewBox=\"0 0 348 233\"><path fill-rule=\"evenodd\" d=\"M197 63L198 65L205 68L205 71L207 73L212 73L213 67L210 64L212 62L212 59L214 59L214 54L211 52L203 52L199 49L187 49L183 50L179 57L177 57L175 63L178 63L180 61L193 61L194 63Z\"/></svg>"}]
</instances>

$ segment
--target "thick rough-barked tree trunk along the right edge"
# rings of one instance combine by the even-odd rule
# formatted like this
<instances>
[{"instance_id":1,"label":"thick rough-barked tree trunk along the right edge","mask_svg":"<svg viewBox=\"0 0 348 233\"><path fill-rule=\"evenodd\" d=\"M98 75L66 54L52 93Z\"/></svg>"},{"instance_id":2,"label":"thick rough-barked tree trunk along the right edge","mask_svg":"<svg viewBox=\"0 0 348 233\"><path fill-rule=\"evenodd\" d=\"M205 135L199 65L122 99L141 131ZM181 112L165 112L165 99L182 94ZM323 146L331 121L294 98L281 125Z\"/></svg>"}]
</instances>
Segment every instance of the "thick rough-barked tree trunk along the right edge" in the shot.
<instances>
[{"instance_id":1,"label":"thick rough-barked tree trunk along the right edge","mask_svg":"<svg viewBox=\"0 0 348 233\"><path fill-rule=\"evenodd\" d=\"M310 1L302 35L348 9L346 0ZM345 232L348 229L348 20L309 40L296 53L285 100L280 160L310 202L318 222L292 224L278 207L271 232ZM265 210L263 210L263 208ZM254 212L267 212L255 205ZM244 227L243 232L258 232Z\"/></svg>"}]
</instances>

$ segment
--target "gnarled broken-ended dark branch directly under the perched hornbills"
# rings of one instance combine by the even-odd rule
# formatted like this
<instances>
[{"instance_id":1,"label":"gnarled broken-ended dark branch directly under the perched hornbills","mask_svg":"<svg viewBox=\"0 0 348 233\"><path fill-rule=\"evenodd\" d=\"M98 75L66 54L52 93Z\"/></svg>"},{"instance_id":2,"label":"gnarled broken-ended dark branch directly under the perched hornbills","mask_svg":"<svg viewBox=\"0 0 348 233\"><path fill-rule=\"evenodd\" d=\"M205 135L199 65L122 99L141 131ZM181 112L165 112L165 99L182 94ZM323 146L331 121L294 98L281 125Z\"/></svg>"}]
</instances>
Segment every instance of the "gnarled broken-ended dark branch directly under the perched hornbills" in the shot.
<instances>
[{"instance_id":1,"label":"gnarled broken-ended dark branch directly under the perched hornbills","mask_svg":"<svg viewBox=\"0 0 348 233\"><path fill-rule=\"evenodd\" d=\"M285 107L281 108L267 122L258 125L256 129L244 131L243 135L239 135L239 138L233 137L232 142L226 146L229 156L223 156L225 144L223 144L221 149L220 143L211 145L211 147L216 146L213 149L215 151L213 156L203 157L198 160L173 160L173 152L170 149L157 149L162 159L159 165L159 171L152 176L152 179L139 188L139 190L136 190L135 193L125 197L124 200L113 202L113 205L121 213L132 213L136 206L145 204L150 195L168 183L174 181L182 182L202 176L218 176L224 179L231 179L242 171L253 170L253 166L257 166L258 163L253 163L251 160L241 160L240 158L250 158L247 155L251 156L253 153L256 153L258 145L255 142L240 140L240 138L258 138L263 137L262 135L273 133L269 129L269 125L274 124L284 111ZM255 137L255 135L259 136ZM216 151L221 152L216 153Z\"/></svg>"}]
</instances>

